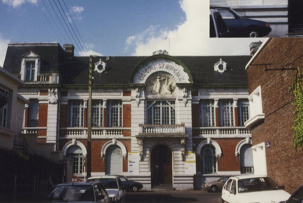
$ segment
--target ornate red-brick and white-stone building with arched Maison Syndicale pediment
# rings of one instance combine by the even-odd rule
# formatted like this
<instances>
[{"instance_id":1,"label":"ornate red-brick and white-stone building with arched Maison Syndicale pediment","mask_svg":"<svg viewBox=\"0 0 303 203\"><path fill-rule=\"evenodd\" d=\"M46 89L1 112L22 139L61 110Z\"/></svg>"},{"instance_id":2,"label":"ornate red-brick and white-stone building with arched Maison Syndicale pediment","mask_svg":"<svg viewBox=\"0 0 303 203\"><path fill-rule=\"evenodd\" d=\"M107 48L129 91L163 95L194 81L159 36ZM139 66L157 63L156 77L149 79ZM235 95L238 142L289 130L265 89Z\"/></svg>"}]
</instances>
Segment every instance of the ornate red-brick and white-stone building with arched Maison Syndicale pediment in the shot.
<instances>
[{"instance_id":1,"label":"ornate red-brick and white-stone building with arched Maison Syndicale pediment","mask_svg":"<svg viewBox=\"0 0 303 203\"><path fill-rule=\"evenodd\" d=\"M251 56L93 57L92 176L151 189L200 188L253 172L245 65ZM215 65L214 65L215 64ZM9 43L4 68L25 81L26 137L52 143L85 176L89 57L58 43Z\"/></svg>"}]
</instances>

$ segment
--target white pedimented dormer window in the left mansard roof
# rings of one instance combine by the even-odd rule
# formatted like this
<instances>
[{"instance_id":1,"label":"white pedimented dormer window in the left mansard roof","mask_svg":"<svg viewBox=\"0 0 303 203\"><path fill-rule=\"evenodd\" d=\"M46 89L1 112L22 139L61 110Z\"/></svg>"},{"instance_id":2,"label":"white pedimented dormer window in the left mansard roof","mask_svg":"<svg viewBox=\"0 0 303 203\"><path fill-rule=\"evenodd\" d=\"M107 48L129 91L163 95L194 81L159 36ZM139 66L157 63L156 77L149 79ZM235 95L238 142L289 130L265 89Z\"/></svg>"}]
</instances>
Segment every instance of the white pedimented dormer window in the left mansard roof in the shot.
<instances>
[{"instance_id":1,"label":"white pedimented dormer window in the left mansard roof","mask_svg":"<svg viewBox=\"0 0 303 203\"><path fill-rule=\"evenodd\" d=\"M25 81L37 81L40 70L40 56L30 51L22 55L21 79Z\"/></svg>"}]
</instances>

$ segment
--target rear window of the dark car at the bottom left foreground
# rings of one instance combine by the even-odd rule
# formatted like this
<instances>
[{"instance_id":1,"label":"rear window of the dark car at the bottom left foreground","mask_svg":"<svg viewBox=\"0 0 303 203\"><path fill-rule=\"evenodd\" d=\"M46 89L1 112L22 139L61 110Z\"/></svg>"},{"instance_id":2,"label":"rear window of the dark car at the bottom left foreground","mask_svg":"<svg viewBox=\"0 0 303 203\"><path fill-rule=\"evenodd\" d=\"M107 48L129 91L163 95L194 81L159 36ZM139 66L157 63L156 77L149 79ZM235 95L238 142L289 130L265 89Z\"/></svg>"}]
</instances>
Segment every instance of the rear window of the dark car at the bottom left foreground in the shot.
<instances>
[{"instance_id":1,"label":"rear window of the dark car at the bottom left foreground","mask_svg":"<svg viewBox=\"0 0 303 203\"><path fill-rule=\"evenodd\" d=\"M59 185L46 199L46 202L70 201L95 201L92 185Z\"/></svg>"}]
</instances>

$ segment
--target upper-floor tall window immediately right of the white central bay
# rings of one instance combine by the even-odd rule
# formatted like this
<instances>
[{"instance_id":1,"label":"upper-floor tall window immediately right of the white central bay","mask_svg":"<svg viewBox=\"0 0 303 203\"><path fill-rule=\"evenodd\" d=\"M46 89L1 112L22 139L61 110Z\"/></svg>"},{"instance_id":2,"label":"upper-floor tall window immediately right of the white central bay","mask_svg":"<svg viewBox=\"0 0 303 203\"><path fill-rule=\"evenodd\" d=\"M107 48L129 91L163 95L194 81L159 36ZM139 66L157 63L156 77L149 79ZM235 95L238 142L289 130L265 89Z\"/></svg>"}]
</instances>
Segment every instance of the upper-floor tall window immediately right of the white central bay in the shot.
<instances>
[{"instance_id":1,"label":"upper-floor tall window immediately right of the white central bay","mask_svg":"<svg viewBox=\"0 0 303 203\"><path fill-rule=\"evenodd\" d=\"M214 100L204 99L199 107L200 126L215 126Z\"/></svg>"}]
</instances>

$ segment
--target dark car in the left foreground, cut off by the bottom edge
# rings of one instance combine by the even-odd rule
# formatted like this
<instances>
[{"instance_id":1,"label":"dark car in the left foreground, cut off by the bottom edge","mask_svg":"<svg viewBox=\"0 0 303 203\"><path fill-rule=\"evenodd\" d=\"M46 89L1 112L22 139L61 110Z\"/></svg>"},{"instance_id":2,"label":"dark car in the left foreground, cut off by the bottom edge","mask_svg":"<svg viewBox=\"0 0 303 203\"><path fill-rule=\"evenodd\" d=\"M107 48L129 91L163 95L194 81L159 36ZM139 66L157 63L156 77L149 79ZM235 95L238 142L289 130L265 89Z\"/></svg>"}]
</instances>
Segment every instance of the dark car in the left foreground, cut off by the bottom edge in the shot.
<instances>
[{"instance_id":1,"label":"dark car in the left foreground, cut off by the bottom edge","mask_svg":"<svg viewBox=\"0 0 303 203\"><path fill-rule=\"evenodd\" d=\"M71 182L55 185L46 202L109 203L108 194L100 182Z\"/></svg>"}]
</instances>

